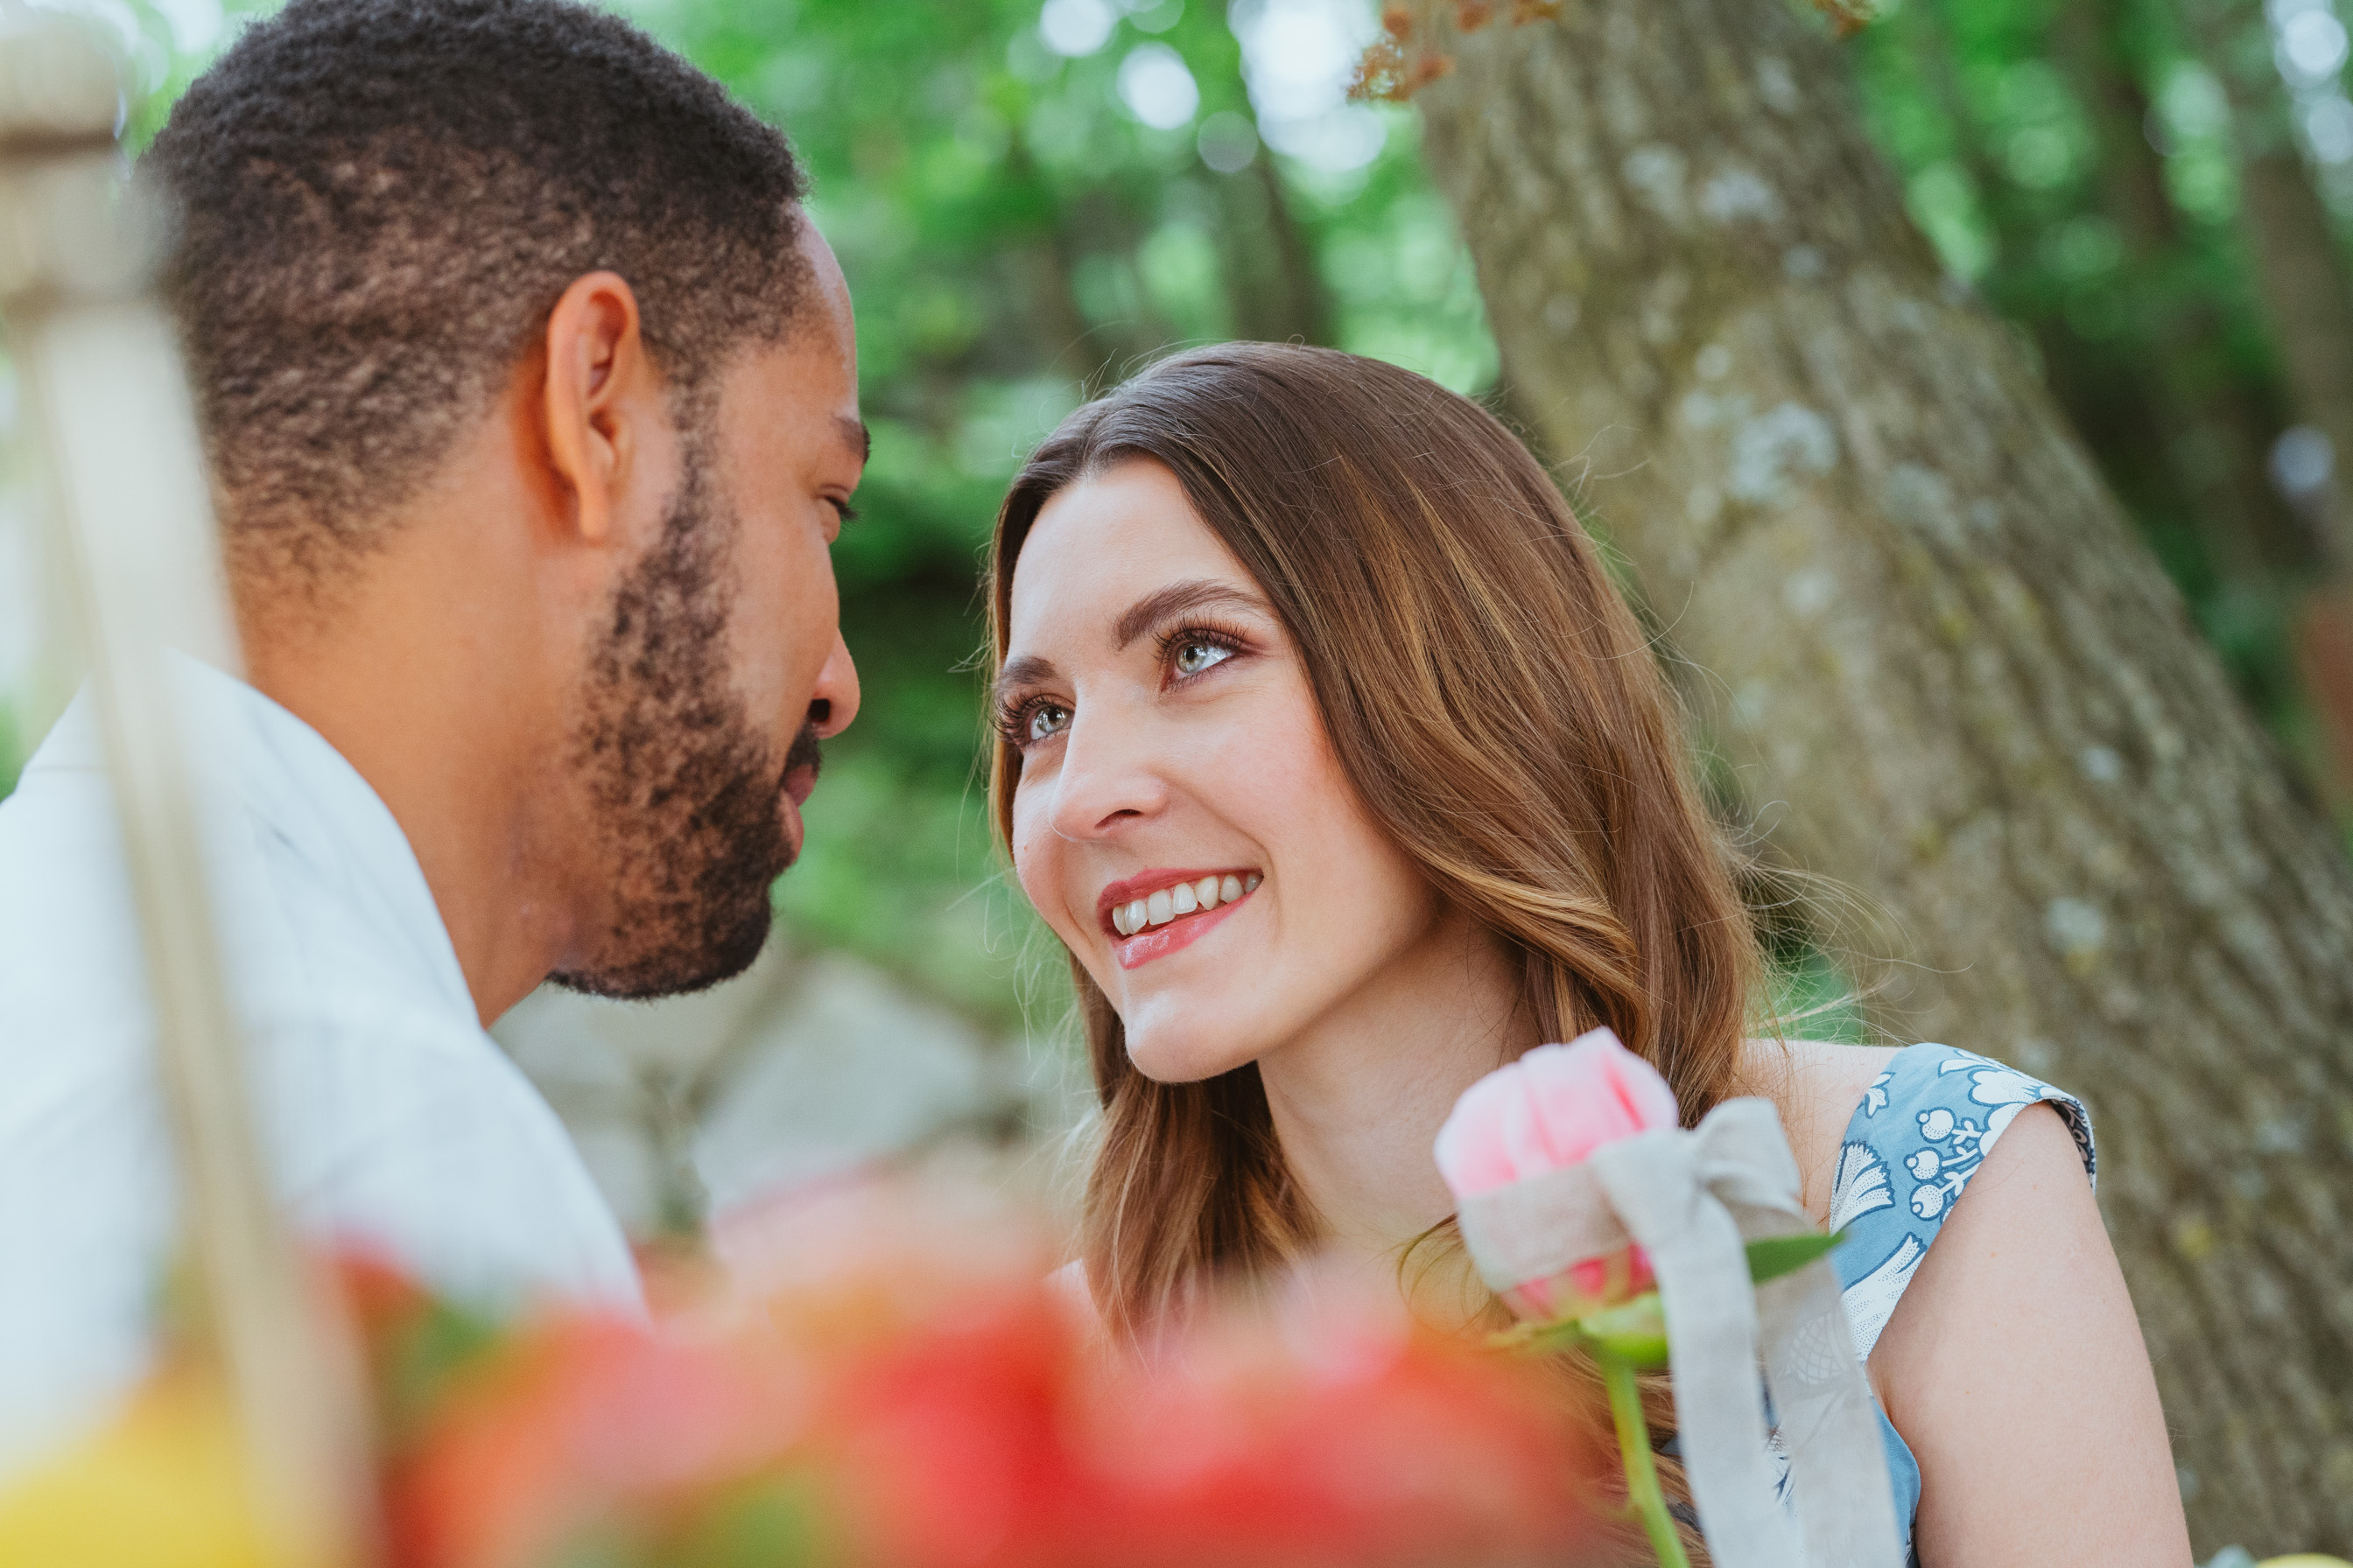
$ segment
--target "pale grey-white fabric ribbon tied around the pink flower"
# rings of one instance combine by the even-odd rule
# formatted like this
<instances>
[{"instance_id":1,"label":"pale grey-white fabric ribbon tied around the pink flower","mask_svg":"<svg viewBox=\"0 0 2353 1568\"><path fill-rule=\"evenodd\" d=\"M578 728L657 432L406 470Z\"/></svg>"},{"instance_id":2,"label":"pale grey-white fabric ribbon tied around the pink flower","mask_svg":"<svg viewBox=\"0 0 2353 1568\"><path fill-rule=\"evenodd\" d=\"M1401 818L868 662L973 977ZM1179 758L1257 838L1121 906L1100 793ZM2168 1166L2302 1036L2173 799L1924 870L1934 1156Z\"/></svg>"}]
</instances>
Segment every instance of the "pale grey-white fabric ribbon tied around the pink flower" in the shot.
<instances>
[{"instance_id":1,"label":"pale grey-white fabric ribbon tied around the pink flower","mask_svg":"<svg viewBox=\"0 0 2353 1568\"><path fill-rule=\"evenodd\" d=\"M1748 1284L1748 1241L1814 1227L1769 1100L1725 1100L1692 1131L1607 1143L1579 1166L1473 1194L1457 1218L1497 1291L1628 1241L1649 1253L1682 1467L1718 1568L1899 1568L1878 1408L1828 1258ZM1760 1340L1795 1521L1765 1450Z\"/></svg>"}]
</instances>

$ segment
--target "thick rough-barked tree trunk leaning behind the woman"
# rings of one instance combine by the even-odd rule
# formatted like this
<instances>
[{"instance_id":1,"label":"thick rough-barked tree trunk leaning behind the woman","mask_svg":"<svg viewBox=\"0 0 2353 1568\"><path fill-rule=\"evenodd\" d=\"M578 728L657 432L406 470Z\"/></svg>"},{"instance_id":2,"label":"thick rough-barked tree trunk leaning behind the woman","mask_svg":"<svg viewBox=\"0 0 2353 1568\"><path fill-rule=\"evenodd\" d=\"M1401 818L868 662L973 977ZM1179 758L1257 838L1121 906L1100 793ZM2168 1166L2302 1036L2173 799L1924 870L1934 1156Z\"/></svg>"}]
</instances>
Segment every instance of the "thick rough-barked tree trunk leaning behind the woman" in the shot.
<instances>
[{"instance_id":1,"label":"thick rough-barked tree trunk leaning behind the woman","mask_svg":"<svg viewBox=\"0 0 2353 1568\"><path fill-rule=\"evenodd\" d=\"M1906 1027L2085 1093L2202 1552L2353 1544L2353 870L1779 0L1567 0L1419 99L1518 407Z\"/></svg>"}]
</instances>

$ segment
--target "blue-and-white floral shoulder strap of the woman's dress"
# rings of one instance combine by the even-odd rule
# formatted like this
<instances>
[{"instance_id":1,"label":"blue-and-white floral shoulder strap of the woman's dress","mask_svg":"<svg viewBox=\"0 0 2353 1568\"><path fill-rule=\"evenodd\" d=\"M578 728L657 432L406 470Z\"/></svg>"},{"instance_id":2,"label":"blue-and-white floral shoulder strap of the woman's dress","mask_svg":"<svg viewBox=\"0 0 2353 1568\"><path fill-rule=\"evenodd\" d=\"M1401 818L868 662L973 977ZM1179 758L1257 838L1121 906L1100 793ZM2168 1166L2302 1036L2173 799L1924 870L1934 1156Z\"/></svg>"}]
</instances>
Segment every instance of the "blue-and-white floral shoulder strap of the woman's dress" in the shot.
<instances>
[{"instance_id":1,"label":"blue-and-white floral shoulder strap of the woman's dress","mask_svg":"<svg viewBox=\"0 0 2353 1568\"><path fill-rule=\"evenodd\" d=\"M1953 1046L1906 1046L1864 1091L1831 1187L1831 1229L1847 1234L1831 1260L1864 1359L1969 1178L2028 1105L2066 1119L2085 1175L2097 1178L2082 1100L2017 1067Z\"/></svg>"}]
</instances>

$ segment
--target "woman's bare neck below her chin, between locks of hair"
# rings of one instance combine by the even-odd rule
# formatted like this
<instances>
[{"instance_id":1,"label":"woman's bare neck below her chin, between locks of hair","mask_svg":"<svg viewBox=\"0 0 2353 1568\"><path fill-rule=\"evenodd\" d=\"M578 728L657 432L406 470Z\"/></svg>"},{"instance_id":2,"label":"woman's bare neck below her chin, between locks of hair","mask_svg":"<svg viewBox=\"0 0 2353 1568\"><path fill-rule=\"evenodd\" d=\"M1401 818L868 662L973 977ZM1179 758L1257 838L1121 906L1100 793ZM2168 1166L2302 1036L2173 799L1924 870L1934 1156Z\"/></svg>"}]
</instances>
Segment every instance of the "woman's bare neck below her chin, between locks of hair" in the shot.
<instances>
[{"instance_id":1,"label":"woman's bare neck below her chin, between locks of hair","mask_svg":"<svg viewBox=\"0 0 2353 1568\"><path fill-rule=\"evenodd\" d=\"M1344 1253L1379 1258L1454 1213L1431 1143L1454 1100L1537 1041L1522 971L1461 914L1259 1058L1292 1180Z\"/></svg>"}]
</instances>

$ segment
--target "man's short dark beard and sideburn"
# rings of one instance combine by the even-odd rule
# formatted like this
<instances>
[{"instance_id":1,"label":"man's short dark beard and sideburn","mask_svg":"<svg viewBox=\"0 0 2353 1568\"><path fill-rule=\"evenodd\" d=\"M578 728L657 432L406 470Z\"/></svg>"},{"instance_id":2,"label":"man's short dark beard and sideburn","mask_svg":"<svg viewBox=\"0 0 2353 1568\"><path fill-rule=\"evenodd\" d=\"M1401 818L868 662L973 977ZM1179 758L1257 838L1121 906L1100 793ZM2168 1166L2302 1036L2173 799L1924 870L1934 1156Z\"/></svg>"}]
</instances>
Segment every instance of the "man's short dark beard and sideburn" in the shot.
<instances>
[{"instance_id":1,"label":"man's short dark beard and sideburn","mask_svg":"<svg viewBox=\"0 0 2353 1568\"><path fill-rule=\"evenodd\" d=\"M819 762L814 726L779 759L729 677L736 520L701 447L687 440L661 536L614 592L572 731L612 903L586 961L553 978L598 997L675 997L760 957L769 884L793 863L784 780Z\"/></svg>"}]
</instances>

